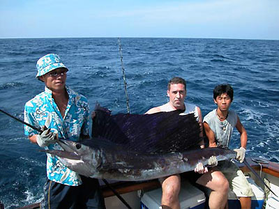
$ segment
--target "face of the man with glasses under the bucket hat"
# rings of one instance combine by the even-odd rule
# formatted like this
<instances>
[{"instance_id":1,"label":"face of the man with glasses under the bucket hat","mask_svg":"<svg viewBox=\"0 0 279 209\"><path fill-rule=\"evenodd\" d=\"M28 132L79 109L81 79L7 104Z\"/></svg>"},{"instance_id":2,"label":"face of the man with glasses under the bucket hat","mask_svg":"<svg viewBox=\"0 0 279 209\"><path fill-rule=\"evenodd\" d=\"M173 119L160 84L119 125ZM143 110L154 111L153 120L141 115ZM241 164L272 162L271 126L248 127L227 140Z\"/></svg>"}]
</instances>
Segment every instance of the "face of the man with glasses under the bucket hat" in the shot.
<instances>
[{"instance_id":1,"label":"face of the man with glasses under the bucket hat","mask_svg":"<svg viewBox=\"0 0 279 209\"><path fill-rule=\"evenodd\" d=\"M65 88L67 70L65 68L56 68L47 74L42 75L40 79L45 82L45 86L52 91L60 91Z\"/></svg>"}]
</instances>

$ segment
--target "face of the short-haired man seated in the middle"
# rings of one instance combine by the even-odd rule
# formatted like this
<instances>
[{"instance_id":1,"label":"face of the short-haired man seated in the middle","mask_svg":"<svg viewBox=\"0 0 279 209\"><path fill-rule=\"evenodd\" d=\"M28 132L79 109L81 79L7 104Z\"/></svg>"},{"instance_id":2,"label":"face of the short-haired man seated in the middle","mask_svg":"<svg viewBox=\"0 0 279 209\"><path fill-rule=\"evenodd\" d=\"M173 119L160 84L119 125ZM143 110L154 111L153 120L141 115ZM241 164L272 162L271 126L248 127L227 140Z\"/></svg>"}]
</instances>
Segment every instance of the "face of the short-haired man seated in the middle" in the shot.
<instances>
[{"instance_id":1,"label":"face of the short-haired man seated in the middle","mask_svg":"<svg viewBox=\"0 0 279 209\"><path fill-rule=\"evenodd\" d=\"M184 84L171 84L169 90L167 90L167 96L169 97L169 103L174 109L185 108L186 89Z\"/></svg>"}]
</instances>

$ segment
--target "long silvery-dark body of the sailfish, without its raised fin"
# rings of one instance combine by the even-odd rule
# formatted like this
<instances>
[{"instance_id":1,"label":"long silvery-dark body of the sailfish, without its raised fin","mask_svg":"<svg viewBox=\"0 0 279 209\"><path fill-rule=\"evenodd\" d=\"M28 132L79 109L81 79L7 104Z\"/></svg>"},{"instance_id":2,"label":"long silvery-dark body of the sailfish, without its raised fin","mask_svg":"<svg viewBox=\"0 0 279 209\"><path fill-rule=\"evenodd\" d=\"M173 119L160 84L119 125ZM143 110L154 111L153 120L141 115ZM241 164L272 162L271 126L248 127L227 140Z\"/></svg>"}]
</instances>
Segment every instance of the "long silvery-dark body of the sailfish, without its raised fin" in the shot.
<instances>
[{"instance_id":1,"label":"long silvery-dark body of the sailfish, without its raised fin","mask_svg":"<svg viewBox=\"0 0 279 209\"><path fill-rule=\"evenodd\" d=\"M103 143L103 142L102 142ZM218 161L236 157L226 148L204 148L174 153L139 153L107 142L98 144L92 139L77 143L60 140L64 150L43 150L56 155L69 169L91 178L122 181L151 180L193 171L198 162L208 165L209 157Z\"/></svg>"}]
</instances>

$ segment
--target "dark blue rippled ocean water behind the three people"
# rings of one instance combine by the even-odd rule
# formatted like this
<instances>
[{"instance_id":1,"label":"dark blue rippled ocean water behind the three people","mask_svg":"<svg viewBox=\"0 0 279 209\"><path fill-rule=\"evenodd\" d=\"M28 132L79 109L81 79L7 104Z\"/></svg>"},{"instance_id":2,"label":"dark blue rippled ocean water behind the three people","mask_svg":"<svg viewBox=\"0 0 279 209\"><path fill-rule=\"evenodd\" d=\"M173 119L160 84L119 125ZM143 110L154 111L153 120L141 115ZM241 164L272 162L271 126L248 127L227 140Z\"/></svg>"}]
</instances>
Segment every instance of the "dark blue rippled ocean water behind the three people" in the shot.
<instances>
[{"instance_id":1,"label":"dark blue rippled ocean water behind the three people","mask_svg":"<svg viewBox=\"0 0 279 209\"><path fill-rule=\"evenodd\" d=\"M279 162L279 40L122 38L130 109L143 114L167 102L167 82L188 82L186 101L205 116L215 108L213 88L234 88L231 109L248 131L247 155ZM44 90L36 61L56 53L69 68L67 83L89 99L126 112L117 38L0 39L0 109L23 119L24 104ZM6 208L38 202L45 153L24 136L23 125L0 113L0 200ZM230 148L239 147L234 132Z\"/></svg>"}]
</instances>

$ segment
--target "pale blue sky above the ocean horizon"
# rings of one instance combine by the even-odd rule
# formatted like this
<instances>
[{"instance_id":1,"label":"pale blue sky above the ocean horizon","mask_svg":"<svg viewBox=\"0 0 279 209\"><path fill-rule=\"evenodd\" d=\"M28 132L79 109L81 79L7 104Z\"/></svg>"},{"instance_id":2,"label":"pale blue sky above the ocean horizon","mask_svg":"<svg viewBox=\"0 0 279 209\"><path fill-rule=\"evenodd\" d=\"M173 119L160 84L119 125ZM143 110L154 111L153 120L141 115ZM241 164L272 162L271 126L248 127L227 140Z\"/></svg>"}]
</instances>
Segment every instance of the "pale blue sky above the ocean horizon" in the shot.
<instances>
[{"instance_id":1,"label":"pale blue sky above the ocean horizon","mask_svg":"<svg viewBox=\"0 0 279 209\"><path fill-rule=\"evenodd\" d=\"M278 0L0 0L0 38L279 40Z\"/></svg>"}]
</instances>

